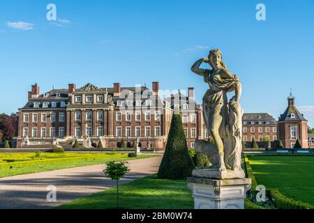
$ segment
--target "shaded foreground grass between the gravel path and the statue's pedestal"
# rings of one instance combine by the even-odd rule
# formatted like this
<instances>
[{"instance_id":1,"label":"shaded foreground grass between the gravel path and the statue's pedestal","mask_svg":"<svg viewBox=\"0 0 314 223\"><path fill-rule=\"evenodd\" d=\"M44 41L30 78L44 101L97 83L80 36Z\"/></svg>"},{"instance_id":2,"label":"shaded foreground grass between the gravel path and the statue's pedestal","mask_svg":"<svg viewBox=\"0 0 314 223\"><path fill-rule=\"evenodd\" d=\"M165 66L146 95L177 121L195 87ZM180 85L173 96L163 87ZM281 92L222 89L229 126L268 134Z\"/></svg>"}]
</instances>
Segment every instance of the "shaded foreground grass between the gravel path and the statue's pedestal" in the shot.
<instances>
[{"instance_id":1,"label":"shaded foreground grass between the gravel path and the statue's pedestal","mask_svg":"<svg viewBox=\"0 0 314 223\"><path fill-rule=\"evenodd\" d=\"M119 186L123 209L193 209L194 201L186 180L159 180L147 176ZM76 199L61 209L112 209L117 205L117 187L90 197Z\"/></svg>"}]
</instances>

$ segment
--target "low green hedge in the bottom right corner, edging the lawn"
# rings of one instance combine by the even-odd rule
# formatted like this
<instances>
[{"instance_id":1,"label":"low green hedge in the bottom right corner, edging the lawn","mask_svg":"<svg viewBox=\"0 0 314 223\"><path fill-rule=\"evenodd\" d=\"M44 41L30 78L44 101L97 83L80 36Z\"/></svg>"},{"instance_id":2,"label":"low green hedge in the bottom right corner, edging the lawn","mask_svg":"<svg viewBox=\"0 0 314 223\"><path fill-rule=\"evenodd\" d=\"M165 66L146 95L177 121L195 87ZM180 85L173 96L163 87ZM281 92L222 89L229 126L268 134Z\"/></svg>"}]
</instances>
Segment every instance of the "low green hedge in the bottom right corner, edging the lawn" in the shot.
<instances>
[{"instance_id":1,"label":"low green hedge in the bottom right corner, edging the lawn","mask_svg":"<svg viewBox=\"0 0 314 223\"><path fill-rule=\"evenodd\" d=\"M294 199L285 197L278 189L269 190L269 194L271 198L274 199L277 209L314 209L314 206L309 203L294 201Z\"/></svg>"}]
</instances>

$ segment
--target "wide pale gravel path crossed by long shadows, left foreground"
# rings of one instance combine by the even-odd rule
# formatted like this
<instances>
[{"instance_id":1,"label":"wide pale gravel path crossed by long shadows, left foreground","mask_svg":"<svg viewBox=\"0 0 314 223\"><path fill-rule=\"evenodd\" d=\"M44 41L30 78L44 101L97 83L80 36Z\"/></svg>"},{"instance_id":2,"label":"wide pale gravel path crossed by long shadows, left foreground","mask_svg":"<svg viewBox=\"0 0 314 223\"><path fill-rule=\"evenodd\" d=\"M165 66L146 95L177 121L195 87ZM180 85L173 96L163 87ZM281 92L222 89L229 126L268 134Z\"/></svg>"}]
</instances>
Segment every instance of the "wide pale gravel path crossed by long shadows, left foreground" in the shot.
<instances>
[{"instance_id":1,"label":"wide pale gravel path crossed by long shadows, left foreground","mask_svg":"<svg viewBox=\"0 0 314 223\"><path fill-rule=\"evenodd\" d=\"M131 160L131 171L120 180L129 183L158 171L162 156ZM40 209L52 208L80 197L101 192L115 186L115 182L105 178L105 164L75 167L37 174L0 178L0 209ZM57 187L57 202L48 202L48 185Z\"/></svg>"}]
</instances>

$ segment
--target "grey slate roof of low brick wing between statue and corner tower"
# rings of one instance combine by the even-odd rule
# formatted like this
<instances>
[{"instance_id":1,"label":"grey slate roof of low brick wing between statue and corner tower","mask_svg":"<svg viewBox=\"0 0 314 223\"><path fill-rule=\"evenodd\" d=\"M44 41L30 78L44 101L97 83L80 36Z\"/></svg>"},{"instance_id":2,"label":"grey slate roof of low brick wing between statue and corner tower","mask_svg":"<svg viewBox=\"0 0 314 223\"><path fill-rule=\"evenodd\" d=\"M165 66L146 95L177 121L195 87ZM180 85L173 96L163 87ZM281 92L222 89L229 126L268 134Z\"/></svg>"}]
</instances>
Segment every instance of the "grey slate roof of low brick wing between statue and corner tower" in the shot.
<instances>
[{"instance_id":1,"label":"grey slate roof of low brick wing between statue and corner tower","mask_svg":"<svg viewBox=\"0 0 314 223\"><path fill-rule=\"evenodd\" d=\"M244 113L244 125L277 125L276 119L267 113Z\"/></svg>"}]
</instances>

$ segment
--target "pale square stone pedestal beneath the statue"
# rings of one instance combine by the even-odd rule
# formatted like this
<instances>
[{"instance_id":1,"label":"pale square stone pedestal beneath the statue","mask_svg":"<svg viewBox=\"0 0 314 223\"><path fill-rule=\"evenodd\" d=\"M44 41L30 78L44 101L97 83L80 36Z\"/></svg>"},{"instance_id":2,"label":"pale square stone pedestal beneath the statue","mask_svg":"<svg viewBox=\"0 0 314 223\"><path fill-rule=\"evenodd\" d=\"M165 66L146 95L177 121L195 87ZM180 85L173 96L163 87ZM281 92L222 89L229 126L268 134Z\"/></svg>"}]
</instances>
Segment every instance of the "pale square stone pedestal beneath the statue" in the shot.
<instances>
[{"instance_id":1,"label":"pale square stone pedestal beneath the statue","mask_svg":"<svg viewBox=\"0 0 314 223\"><path fill-rule=\"evenodd\" d=\"M215 180L188 178L195 209L244 209L246 192L251 188L251 179Z\"/></svg>"}]
</instances>

